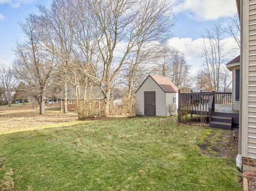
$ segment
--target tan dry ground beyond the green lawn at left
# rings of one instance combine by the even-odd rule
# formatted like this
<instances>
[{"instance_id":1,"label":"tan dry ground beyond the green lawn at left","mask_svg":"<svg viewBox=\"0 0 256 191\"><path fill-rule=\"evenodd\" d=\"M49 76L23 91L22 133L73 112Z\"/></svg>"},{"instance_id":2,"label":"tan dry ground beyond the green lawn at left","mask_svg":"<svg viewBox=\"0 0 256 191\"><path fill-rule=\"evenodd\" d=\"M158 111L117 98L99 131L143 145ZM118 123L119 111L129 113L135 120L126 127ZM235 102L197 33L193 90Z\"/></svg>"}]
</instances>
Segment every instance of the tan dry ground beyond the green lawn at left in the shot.
<instances>
[{"instance_id":1,"label":"tan dry ground beyond the green lawn at left","mask_svg":"<svg viewBox=\"0 0 256 191\"><path fill-rule=\"evenodd\" d=\"M6 130L30 128L36 126L57 124L78 120L76 112L64 114L60 111L60 104L45 107L44 115L32 104L20 106L0 106L0 133Z\"/></svg>"}]
</instances>

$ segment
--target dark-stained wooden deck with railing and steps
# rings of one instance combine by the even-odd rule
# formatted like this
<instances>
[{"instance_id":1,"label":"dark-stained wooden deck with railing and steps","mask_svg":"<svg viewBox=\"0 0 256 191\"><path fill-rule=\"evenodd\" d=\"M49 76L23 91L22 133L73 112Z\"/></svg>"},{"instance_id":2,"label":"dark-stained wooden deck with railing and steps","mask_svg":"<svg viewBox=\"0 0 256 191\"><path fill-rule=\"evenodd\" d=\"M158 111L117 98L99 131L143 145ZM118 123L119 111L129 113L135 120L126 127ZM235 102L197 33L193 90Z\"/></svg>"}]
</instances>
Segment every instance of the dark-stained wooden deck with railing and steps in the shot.
<instances>
[{"instance_id":1,"label":"dark-stained wooden deck with railing and steps","mask_svg":"<svg viewBox=\"0 0 256 191\"><path fill-rule=\"evenodd\" d=\"M209 116L209 126L231 129L239 124L239 111L232 109L232 93L181 93L179 90L178 111ZM180 117L178 116L180 122Z\"/></svg>"}]
</instances>

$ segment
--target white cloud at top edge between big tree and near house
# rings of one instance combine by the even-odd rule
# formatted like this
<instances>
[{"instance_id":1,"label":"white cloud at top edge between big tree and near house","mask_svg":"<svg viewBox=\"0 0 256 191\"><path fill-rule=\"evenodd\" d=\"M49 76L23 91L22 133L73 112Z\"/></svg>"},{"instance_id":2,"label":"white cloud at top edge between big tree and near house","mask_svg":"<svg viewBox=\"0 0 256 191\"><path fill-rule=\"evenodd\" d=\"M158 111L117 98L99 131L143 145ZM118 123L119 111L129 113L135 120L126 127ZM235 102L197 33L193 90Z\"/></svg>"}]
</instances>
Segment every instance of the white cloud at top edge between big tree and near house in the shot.
<instances>
[{"instance_id":1,"label":"white cloud at top edge between big tree and near house","mask_svg":"<svg viewBox=\"0 0 256 191\"><path fill-rule=\"evenodd\" d=\"M174 12L198 21L231 17L236 12L235 0L174 0Z\"/></svg>"}]
</instances>

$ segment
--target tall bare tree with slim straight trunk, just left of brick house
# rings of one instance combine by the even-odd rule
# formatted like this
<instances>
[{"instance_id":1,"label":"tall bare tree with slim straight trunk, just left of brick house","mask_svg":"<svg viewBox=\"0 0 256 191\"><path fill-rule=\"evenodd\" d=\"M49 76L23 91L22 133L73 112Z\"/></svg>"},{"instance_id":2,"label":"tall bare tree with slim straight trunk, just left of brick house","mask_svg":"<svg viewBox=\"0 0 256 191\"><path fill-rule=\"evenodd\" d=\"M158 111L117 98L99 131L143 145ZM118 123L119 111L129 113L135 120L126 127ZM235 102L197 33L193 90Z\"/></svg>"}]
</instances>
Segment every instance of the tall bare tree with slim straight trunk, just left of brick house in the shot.
<instances>
[{"instance_id":1,"label":"tall bare tree with slim straight trunk, just left of brick house","mask_svg":"<svg viewBox=\"0 0 256 191\"><path fill-rule=\"evenodd\" d=\"M58 71L61 74L59 80L63 82L64 86L64 113L68 112L67 107L67 71L73 69L70 61L72 52L72 42L74 33L74 21L76 19L73 7L74 1L69 0L53 0L49 9L44 5L38 5L40 12L48 23L46 28L45 43L50 48L51 52L55 54L58 63ZM68 67L68 69L67 69ZM70 74L70 72L69 72Z\"/></svg>"}]
</instances>

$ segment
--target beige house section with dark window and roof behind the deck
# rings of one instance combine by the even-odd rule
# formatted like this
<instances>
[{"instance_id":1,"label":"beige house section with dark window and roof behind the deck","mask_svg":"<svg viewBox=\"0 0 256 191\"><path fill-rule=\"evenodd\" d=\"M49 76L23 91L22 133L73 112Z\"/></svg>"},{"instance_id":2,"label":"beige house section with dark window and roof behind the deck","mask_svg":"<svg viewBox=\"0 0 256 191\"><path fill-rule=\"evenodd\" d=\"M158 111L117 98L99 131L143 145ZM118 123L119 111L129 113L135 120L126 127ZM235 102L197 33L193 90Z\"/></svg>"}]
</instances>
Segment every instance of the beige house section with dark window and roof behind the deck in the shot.
<instances>
[{"instance_id":1,"label":"beige house section with dark window and roof behind the deck","mask_svg":"<svg viewBox=\"0 0 256 191\"><path fill-rule=\"evenodd\" d=\"M232 72L232 109L239 111L240 106L240 55L226 64Z\"/></svg>"}]
</instances>

